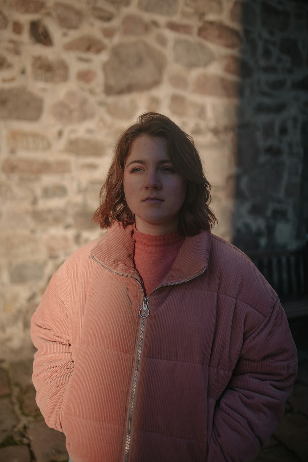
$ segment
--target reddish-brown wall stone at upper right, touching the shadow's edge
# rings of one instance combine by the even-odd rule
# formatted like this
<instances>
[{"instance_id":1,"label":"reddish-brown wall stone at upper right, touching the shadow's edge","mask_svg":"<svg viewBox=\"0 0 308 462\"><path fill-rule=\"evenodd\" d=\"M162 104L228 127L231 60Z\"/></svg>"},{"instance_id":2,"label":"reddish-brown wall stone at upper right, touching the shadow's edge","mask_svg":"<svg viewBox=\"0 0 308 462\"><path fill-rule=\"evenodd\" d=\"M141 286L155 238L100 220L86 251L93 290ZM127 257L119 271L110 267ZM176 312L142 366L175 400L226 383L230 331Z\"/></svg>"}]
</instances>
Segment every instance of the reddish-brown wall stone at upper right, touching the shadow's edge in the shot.
<instances>
[{"instance_id":1,"label":"reddish-brown wall stone at upper right, touching the shadow's edge","mask_svg":"<svg viewBox=\"0 0 308 462\"><path fill-rule=\"evenodd\" d=\"M226 48L236 49L242 44L241 34L221 22L205 21L198 29L198 36Z\"/></svg>"}]
</instances>

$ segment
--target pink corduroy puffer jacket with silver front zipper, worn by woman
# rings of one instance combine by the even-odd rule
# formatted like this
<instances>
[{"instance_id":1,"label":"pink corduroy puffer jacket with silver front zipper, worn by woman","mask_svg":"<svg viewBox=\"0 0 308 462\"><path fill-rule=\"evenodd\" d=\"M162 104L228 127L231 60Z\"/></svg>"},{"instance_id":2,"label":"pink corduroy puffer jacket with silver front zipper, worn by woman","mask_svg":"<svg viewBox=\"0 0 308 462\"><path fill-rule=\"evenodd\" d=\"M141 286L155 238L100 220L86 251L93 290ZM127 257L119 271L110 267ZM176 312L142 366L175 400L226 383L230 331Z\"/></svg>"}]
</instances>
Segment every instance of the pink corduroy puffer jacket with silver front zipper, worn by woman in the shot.
<instances>
[{"instance_id":1,"label":"pink corduroy puffer jacket with silver front zipper, worn by woman","mask_svg":"<svg viewBox=\"0 0 308 462\"><path fill-rule=\"evenodd\" d=\"M73 462L251 461L296 377L277 294L204 231L144 298L133 249L133 226L115 223L67 259L33 315L48 426Z\"/></svg>"}]
</instances>

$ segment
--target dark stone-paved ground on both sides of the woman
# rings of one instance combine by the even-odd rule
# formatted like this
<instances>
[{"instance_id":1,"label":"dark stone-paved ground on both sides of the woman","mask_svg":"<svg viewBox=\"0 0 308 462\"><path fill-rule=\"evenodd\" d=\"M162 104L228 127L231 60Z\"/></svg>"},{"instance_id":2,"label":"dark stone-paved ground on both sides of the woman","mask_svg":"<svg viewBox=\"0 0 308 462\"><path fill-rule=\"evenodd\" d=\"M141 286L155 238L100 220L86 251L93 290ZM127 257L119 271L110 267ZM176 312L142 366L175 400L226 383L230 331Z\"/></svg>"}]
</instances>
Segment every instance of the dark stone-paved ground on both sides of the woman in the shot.
<instances>
[{"instance_id":1,"label":"dark stone-paved ground on both sides of the woman","mask_svg":"<svg viewBox=\"0 0 308 462\"><path fill-rule=\"evenodd\" d=\"M254 462L308 462L308 317L290 321L298 376L284 419ZM32 359L0 364L0 461L64 462L63 433L50 429L35 402Z\"/></svg>"}]
</instances>

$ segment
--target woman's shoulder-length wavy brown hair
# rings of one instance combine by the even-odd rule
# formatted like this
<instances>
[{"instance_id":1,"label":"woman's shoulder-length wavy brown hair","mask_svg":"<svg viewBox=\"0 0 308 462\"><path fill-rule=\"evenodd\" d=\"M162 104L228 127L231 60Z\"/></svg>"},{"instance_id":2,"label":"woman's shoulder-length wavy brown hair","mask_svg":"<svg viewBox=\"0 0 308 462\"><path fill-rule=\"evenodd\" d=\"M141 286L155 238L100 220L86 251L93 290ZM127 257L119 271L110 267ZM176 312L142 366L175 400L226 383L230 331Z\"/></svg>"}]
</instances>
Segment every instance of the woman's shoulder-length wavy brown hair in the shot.
<instances>
[{"instance_id":1,"label":"woman's shoulder-length wavy brown hair","mask_svg":"<svg viewBox=\"0 0 308 462\"><path fill-rule=\"evenodd\" d=\"M170 161L186 180L186 196L180 210L178 231L185 236L195 236L201 230L210 229L217 223L209 207L211 185L203 173L193 138L168 117L156 112L141 114L138 122L127 128L117 140L114 158L100 192L100 205L93 220L103 229L115 221L120 221L124 228L135 221L124 199L123 173L133 141L141 135L165 138Z\"/></svg>"}]
</instances>

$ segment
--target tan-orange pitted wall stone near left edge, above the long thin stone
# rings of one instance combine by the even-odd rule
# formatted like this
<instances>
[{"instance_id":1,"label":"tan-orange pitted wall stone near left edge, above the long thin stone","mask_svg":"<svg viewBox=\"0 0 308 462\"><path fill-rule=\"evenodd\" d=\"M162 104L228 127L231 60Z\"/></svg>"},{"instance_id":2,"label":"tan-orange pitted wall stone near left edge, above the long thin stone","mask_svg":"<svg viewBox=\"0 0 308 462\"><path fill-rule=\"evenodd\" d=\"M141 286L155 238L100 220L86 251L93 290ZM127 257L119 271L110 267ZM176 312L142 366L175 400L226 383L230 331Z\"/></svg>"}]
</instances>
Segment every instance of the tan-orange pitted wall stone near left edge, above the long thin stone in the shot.
<instances>
[{"instance_id":1,"label":"tan-orange pitted wall stone near left edge, above the long thin stone","mask_svg":"<svg viewBox=\"0 0 308 462\"><path fill-rule=\"evenodd\" d=\"M11 130L6 136L7 145L12 149L23 149L30 151L43 151L51 147L46 135L37 132L24 132Z\"/></svg>"}]
</instances>

